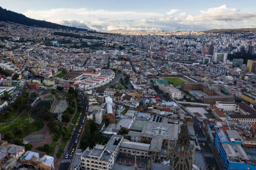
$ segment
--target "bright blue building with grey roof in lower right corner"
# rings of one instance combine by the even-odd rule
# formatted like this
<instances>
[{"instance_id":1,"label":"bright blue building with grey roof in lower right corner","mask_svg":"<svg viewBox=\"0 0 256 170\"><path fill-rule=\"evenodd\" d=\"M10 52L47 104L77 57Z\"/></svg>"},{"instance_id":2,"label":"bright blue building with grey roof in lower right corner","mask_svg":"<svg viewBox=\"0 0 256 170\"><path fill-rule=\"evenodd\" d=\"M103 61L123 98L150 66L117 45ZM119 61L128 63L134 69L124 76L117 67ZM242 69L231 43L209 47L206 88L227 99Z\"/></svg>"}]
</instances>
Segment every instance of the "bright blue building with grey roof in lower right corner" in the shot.
<instances>
[{"instance_id":1,"label":"bright blue building with grey roof in lower right corner","mask_svg":"<svg viewBox=\"0 0 256 170\"><path fill-rule=\"evenodd\" d=\"M255 169L256 164L252 164L241 143L242 139L237 131L216 130L214 145L225 169Z\"/></svg>"}]
</instances>

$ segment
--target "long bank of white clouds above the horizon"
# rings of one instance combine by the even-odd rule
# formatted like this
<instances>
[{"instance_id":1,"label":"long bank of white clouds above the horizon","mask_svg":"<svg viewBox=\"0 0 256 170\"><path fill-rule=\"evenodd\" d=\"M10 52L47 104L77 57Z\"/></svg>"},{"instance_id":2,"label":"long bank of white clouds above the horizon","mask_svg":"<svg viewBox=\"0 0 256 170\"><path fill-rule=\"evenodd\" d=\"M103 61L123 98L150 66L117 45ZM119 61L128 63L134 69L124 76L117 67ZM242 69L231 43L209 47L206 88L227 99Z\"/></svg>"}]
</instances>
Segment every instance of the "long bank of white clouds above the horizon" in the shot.
<instances>
[{"instance_id":1,"label":"long bank of white clouds above the horizon","mask_svg":"<svg viewBox=\"0 0 256 170\"><path fill-rule=\"evenodd\" d=\"M198 15L190 15L177 9L171 9L165 13L156 13L88 10L87 8L28 10L23 14L35 19L74 27L89 27L97 31L113 29L202 31L230 27L256 27L256 13L240 11L225 4L200 10Z\"/></svg>"}]
</instances>

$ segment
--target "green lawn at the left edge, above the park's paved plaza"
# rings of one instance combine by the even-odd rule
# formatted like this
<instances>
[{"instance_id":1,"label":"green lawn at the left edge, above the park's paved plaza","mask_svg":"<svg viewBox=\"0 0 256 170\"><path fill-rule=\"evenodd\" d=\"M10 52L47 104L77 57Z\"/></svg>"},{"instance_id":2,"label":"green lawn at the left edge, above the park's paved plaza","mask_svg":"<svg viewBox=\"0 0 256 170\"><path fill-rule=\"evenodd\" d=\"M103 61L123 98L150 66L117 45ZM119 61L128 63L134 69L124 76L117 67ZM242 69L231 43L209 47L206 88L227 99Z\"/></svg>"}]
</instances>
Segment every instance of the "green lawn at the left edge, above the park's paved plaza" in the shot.
<instances>
[{"instance_id":1,"label":"green lawn at the left edge, above the park's paved plaza","mask_svg":"<svg viewBox=\"0 0 256 170\"><path fill-rule=\"evenodd\" d=\"M29 134L39 131L44 127L44 123L39 120L38 118L33 117L34 122L29 124L28 115L22 115L18 118L17 121L13 122L12 124L4 124L0 125L0 132L6 133L13 131L13 129L22 129L21 134L15 134L16 137L24 138Z\"/></svg>"}]
</instances>

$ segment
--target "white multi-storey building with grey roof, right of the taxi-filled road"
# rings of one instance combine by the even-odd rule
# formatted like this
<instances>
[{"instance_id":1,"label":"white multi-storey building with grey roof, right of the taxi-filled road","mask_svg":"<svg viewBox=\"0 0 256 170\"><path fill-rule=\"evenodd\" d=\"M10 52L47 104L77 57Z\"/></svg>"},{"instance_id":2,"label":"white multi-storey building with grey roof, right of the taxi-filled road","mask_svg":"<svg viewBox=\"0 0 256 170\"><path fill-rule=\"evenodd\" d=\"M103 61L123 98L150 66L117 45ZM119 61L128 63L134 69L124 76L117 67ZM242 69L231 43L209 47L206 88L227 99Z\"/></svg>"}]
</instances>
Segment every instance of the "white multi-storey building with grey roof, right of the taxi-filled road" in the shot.
<instances>
[{"instance_id":1,"label":"white multi-storey building with grey roof, right of the taxi-filled road","mask_svg":"<svg viewBox=\"0 0 256 170\"><path fill-rule=\"evenodd\" d=\"M81 169L112 169L123 139L123 136L113 135L107 145L95 145L92 150L87 148L81 156Z\"/></svg>"}]
</instances>

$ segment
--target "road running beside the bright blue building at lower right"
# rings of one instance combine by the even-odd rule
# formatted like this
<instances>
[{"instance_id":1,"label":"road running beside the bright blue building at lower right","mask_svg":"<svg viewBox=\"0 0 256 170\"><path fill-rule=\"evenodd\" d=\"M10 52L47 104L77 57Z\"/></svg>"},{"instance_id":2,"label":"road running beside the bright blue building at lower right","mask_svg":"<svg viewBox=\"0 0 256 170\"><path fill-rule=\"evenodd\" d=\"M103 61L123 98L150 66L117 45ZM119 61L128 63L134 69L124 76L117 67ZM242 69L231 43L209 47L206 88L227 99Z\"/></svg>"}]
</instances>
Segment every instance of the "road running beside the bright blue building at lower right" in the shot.
<instances>
[{"instance_id":1,"label":"road running beside the bright blue building at lower right","mask_svg":"<svg viewBox=\"0 0 256 170\"><path fill-rule=\"evenodd\" d=\"M212 154L212 150L207 142L205 134L202 131L202 125L195 117L193 118L193 122L194 122L193 127L195 129L196 138L202 150L202 154L204 155L207 169L213 169L213 167L215 167L215 169L218 170L219 169L218 164L214 158L214 155Z\"/></svg>"}]
</instances>

